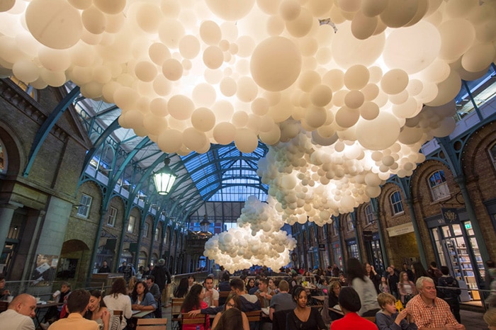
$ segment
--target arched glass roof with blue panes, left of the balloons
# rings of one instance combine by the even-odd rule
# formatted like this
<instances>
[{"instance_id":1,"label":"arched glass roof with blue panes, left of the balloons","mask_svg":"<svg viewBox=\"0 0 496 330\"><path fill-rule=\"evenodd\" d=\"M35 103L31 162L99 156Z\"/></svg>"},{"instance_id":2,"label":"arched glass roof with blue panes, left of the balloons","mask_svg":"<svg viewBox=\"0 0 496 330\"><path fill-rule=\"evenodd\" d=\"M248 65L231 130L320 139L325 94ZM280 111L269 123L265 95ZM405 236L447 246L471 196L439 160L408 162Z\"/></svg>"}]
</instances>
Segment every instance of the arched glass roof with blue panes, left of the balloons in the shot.
<instances>
[{"instance_id":1,"label":"arched glass roof with blue panes, left of the balloons","mask_svg":"<svg viewBox=\"0 0 496 330\"><path fill-rule=\"evenodd\" d=\"M76 86L68 82L66 87L70 91ZM94 173L98 181L119 186L118 192L125 197L133 190L138 190L138 198L157 195L146 176L162 169L164 159L169 158L169 167L178 176L176 183L166 198L154 196L153 205L161 205L174 217L201 217L208 213L209 207L204 206L208 201L239 203L249 195L266 200L268 187L257 176L257 162L267 152L264 144L249 154L239 152L234 143L212 145L205 154L165 154L148 137L120 127L120 109L115 105L81 96L74 101L74 108L95 144L87 157L86 175ZM93 171L88 171L91 166ZM222 214L237 217L240 209L236 205L234 212Z\"/></svg>"}]
</instances>

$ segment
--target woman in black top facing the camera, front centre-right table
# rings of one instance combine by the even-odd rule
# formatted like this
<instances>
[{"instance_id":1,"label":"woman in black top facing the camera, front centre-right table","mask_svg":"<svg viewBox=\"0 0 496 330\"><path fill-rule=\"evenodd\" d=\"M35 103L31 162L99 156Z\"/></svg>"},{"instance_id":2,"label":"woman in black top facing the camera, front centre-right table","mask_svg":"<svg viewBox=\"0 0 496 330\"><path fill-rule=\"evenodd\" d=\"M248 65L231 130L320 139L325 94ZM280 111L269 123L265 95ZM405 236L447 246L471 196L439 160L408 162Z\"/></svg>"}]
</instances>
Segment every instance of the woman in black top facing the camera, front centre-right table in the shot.
<instances>
[{"instance_id":1,"label":"woman in black top facing the camera, front centre-right table","mask_svg":"<svg viewBox=\"0 0 496 330\"><path fill-rule=\"evenodd\" d=\"M326 329L320 312L307 306L308 297L305 289L298 285L293 288L293 300L296 308L288 313L286 330L322 330Z\"/></svg>"}]
</instances>

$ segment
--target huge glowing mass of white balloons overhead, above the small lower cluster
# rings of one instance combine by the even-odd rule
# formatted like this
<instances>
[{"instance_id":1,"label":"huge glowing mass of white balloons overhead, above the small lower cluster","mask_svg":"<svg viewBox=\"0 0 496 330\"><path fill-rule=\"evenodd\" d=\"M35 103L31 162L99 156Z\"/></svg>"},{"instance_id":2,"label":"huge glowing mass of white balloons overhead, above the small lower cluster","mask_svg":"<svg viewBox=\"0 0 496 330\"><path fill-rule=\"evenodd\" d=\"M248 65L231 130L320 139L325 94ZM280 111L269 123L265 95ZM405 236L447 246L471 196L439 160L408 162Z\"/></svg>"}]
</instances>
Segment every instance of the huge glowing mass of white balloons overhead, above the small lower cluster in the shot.
<instances>
[{"instance_id":1,"label":"huge glowing mass of white balloons overhead, above the small lower cluster","mask_svg":"<svg viewBox=\"0 0 496 330\"><path fill-rule=\"evenodd\" d=\"M288 223L411 175L495 40L496 1L0 0L0 77L72 81L167 153L269 145L258 173Z\"/></svg>"}]
</instances>

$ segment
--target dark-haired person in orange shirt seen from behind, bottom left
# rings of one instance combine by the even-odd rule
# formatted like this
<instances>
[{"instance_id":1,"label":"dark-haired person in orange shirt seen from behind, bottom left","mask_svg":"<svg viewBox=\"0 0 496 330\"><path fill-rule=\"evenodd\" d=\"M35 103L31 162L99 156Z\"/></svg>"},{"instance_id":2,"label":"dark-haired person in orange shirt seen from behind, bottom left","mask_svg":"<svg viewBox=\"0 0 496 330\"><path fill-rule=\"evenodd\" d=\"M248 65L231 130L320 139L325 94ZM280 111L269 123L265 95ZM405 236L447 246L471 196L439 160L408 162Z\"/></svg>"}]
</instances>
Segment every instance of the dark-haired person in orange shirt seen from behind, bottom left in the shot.
<instances>
[{"instance_id":1,"label":"dark-haired person in orange shirt seen from behind, bottom left","mask_svg":"<svg viewBox=\"0 0 496 330\"><path fill-rule=\"evenodd\" d=\"M91 295L86 290L74 290L67 298L67 310L69 311L69 316L66 319L60 319L56 322L53 322L52 325L50 325L50 330L98 330L98 323L93 320L84 319L83 317L83 315L86 313L86 310L88 310L90 297ZM104 329L108 329L108 322L110 320L110 317L111 314L108 311L104 311L102 313L101 319L104 324Z\"/></svg>"}]
</instances>

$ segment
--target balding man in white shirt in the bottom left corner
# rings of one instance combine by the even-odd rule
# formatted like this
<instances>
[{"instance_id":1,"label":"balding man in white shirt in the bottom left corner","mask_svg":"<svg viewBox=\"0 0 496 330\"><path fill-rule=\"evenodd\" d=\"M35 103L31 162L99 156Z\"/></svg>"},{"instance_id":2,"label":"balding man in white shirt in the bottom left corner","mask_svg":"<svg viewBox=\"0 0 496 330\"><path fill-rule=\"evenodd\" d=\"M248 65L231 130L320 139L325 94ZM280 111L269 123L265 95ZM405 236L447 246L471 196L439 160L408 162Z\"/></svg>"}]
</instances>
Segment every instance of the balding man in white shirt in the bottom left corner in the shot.
<instances>
[{"instance_id":1,"label":"balding man in white shirt in the bottom left corner","mask_svg":"<svg viewBox=\"0 0 496 330\"><path fill-rule=\"evenodd\" d=\"M4 330L35 330L36 298L22 293L13 298L9 309L0 314L1 329Z\"/></svg>"}]
</instances>

